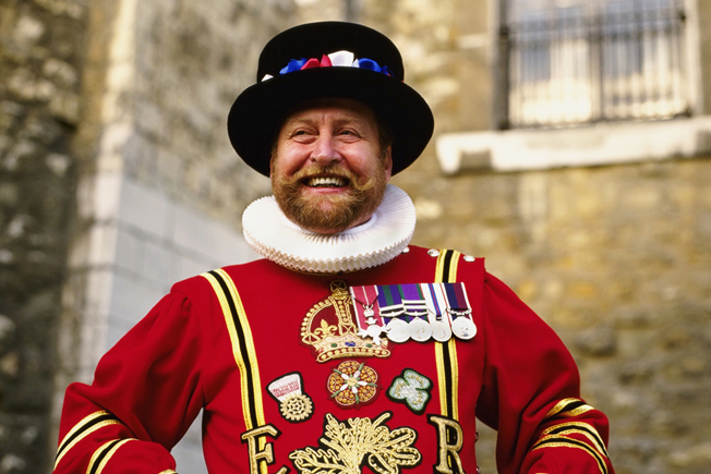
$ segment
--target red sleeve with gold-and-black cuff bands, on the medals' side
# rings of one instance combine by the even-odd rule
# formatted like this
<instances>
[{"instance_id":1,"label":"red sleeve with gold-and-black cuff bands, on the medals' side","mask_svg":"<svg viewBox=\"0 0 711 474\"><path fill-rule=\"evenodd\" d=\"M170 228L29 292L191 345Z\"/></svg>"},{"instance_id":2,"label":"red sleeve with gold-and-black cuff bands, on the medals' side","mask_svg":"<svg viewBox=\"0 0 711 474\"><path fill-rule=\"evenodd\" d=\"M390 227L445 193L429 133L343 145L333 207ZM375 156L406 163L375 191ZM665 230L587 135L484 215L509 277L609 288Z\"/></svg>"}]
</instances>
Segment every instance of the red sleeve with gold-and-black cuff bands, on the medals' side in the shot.
<instances>
[{"instance_id":1,"label":"red sleeve with gold-and-black cuff bands, on the medals' side","mask_svg":"<svg viewBox=\"0 0 711 474\"><path fill-rule=\"evenodd\" d=\"M486 362L477 415L497 429L501 473L613 473L606 416L580 399L580 377L555 332L487 276Z\"/></svg>"}]
</instances>

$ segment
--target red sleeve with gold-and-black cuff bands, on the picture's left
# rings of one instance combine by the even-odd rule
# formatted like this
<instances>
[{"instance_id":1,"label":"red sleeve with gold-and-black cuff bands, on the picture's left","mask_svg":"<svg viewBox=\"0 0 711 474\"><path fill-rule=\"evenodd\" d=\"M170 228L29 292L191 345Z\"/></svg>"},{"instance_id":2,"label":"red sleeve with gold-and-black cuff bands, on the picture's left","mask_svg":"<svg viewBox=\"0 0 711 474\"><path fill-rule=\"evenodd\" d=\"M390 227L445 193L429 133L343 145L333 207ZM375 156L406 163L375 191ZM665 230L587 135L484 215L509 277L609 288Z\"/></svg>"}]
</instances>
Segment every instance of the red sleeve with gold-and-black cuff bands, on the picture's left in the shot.
<instances>
[{"instance_id":1,"label":"red sleeve with gold-and-black cuff bands, on the picture's left","mask_svg":"<svg viewBox=\"0 0 711 474\"><path fill-rule=\"evenodd\" d=\"M69 386L55 473L174 473L169 451L203 405L198 319L184 295L167 295L106 353L91 386Z\"/></svg>"}]
</instances>

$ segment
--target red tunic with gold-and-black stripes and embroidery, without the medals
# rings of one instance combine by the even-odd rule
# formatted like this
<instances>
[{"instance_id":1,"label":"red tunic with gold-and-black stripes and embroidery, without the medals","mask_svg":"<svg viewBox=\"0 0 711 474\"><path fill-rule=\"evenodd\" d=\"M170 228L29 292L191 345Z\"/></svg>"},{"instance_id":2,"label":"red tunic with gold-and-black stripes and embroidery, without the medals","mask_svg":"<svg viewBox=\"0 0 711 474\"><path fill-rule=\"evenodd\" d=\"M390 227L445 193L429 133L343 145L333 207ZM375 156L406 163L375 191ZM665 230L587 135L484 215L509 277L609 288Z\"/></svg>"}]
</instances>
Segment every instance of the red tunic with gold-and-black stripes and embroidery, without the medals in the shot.
<instances>
[{"instance_id":1,"label":"red tunic with gold-and-black stripes and embroidery, without the medals","mask_svg":"<svg viewBox=\"0 0 711 474\"><path fill-rule=\"evenodd\" d=\"M204 410L210 473L475 473L477 417L498 430L501 473L612 473L607 421L580 400L568 351L469 260L411 246L352 274L257 260L177 283L91 386L67 389L55 472L173 472ZM477 335L369 345L336 280L463 282Z\"/></svg>"}]
</instances>

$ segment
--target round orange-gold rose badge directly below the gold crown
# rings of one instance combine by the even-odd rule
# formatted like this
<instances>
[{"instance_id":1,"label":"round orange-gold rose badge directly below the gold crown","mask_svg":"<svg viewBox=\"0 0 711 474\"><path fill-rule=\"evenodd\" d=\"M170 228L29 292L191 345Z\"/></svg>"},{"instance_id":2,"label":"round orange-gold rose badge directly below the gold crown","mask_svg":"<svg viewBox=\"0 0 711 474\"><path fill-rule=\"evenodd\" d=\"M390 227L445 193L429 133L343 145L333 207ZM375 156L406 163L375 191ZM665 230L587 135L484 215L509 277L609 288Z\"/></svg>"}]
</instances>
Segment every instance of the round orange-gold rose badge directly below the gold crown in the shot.
<instances>
[{"instance_id":1,"label":"round orange-gold rose badge directly below the gold crown","mask_svg":"<svg viewBox=\"0 0 711 474\"><path fill-rule=\"evenodd\" d=\"M362 362L345 361L328 377L330 398L341 408L359 408L377 394L377 373Z\"/></svg>"}]
</instances>

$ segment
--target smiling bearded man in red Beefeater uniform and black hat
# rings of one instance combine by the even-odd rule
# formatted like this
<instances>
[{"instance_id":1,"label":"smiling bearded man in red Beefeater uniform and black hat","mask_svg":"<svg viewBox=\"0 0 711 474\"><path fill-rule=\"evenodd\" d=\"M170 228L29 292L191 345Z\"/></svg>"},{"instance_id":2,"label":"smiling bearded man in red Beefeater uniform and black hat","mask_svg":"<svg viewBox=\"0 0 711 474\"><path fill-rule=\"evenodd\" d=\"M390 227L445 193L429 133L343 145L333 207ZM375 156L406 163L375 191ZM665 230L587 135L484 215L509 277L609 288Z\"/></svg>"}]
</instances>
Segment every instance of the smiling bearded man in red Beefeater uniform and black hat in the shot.
<instances>
[{"instance_id":1,"label":"smiling bearded man in red Beefeater uniform and black hat","mask_svg":"<svg viewBox=\"0 0 711 474\"><path fill-rule=\"evenodd\" d=\"M272 178L244 212L265 258L177 283L68 388L57 473L172 473L204 410L214 473L610 473L607 422L553 331L483 260L409 245L387 184L429 142L395 46L363 26L275 37L230 139Z\"/></svg>"}]
</instances>

